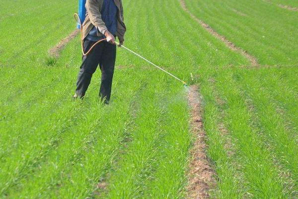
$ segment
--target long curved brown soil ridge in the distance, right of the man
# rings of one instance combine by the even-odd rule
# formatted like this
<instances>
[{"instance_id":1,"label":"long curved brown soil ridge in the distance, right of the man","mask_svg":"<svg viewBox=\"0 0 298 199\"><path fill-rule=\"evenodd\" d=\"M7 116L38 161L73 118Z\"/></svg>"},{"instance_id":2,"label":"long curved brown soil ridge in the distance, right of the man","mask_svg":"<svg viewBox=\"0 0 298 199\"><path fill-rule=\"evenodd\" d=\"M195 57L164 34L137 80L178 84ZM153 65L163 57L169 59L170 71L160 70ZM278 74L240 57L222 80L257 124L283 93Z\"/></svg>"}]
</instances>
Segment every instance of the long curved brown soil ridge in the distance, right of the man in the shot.
<instances>
[{"instance_id":1,"label":"long curved brown soil ridge in the distance, right of the man","mask_svg":"<svg viewBox=\"0 0 298 199\"><path fill-rule=\"evenodd\" d=\"M253 57L252 55L250 55L249 53L247 53L247 51L235 46L235 44L233 44L232 42L230 42L229 40L227 40L223 35L220 35L219 33L217 33L214 29L212 29L212 27L210 27L207 23L203 22L202 20L200 20L199 18L197 18L193 13L191 13L185 4L184 0L180 0L181 2L181 6L182 8L188 12L190 14L190 16L195 19L202 27L204 27L208 32L210 32L213 36L215 36L216 38L222 40L225 45L230 48L233 51L239 52L241 53L243 56L245 56L249 61L250 64L252 66L259 66L258 60Z\"/></svg>"}]
</instances>

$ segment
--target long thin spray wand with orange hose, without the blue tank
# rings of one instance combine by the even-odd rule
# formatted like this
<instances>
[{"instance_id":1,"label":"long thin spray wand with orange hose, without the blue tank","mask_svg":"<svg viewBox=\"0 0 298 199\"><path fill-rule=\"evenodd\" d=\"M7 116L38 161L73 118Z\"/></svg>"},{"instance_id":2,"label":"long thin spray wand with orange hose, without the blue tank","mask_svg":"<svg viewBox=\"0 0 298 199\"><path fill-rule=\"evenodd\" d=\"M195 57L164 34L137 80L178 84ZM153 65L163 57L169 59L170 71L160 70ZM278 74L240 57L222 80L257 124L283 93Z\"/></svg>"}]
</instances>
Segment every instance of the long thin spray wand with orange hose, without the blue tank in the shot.
<instances>
[{"instance_id":1,"label":"long thin spray wand with orange hose, without the blue tank","mask_svg":"<svg viewBox=\"0 0 298 199\"><path fill-rule=\"evenodd\" d=\"M91 46L91 48L85 53L85 52L84 52L84 48L83 48L83 29L82 29L82 23L81 23L81 20L80 20L79 15L78 15L77 13L74 13L74 18L75 18L75 20L77 20L77 21L79 22L79 24L80 24L80 31L81 31L81 49L82 49L83 56L87 56L97 44L99 44L99 43L102 42L102 41L105 41L106 39L101 39L101 40L97 41L97 42L96 42L95 44L93 44L93 45ZM186 82L184 82L183 80L177 78L176 76L174 76L173 74L167 72L166 70L164 70L163 68L157 66L156 64L153 64L152 62L150 62L150 61L149 61L148 59L146 59L145 57L139 55L138 53L135 53L134 51L130 50L129 48L127 48L127 47L125 47L125 46L123 46L123 45L120 45L118 42L116 42L116 44L117 44L119 47L122 47L122 48L128 50L129 52L133 53L134 55L140 57L141 59L145 60L145 61L148 62L149 64L151 64L151 65L153 65L154 67L156 67L157 69L161 70L162 72L164 72L164 73L168 74L169 76L175 78L176 80L180 81L180 82L183 84L183 86L185 86L185 87L187 86L187 83L186 83Z\"/></svg>"}]
</instances>

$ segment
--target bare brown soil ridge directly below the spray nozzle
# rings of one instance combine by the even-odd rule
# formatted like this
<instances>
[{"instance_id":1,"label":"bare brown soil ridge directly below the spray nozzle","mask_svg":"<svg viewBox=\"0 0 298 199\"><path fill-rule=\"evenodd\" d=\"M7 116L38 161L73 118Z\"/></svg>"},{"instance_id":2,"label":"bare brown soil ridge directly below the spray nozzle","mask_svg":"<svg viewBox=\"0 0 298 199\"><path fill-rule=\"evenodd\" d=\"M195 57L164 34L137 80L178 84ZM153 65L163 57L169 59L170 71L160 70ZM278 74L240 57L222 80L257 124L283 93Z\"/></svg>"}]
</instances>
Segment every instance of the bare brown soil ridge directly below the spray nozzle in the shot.
<instances>
[{"instance_id":1,"label":"bare brown soil ridge directly below the spray nozzle","mask_svg":"<svg viewBox=\"0 0 298 199\"><path fill-rule=\"evenodd\" d=\"M197 86L190 87L188 102L191 107L191 128L196 140L191 150L187 197L206 199L209 198L209 191L215 187L216 181L215 172L206 156L206 133L203 128L201 97Z\"/></svg>"}]
</instances>

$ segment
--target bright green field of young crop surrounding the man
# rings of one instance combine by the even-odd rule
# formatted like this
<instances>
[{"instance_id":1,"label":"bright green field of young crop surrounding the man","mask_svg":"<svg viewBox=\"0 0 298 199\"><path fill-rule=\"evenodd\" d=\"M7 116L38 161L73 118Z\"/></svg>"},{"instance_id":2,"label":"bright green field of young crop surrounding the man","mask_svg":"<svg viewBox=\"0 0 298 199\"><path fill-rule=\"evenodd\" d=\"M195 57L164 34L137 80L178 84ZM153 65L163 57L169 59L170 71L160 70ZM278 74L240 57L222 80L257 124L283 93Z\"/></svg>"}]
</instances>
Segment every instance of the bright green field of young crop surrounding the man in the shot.
<instances>
[{"instance_id":1,"label":"bright green field of young crop surrounding the man","mask_svg":"<svg viewBox=\"0 0 298 199\"><path fill-rule=\"evenodd\" d=\"M279 6L297 0L185 0L189 12L179 0L123 4L124 45L199 88L210 197L298 198L298 11ZM0 198L187 198L187 89L118 49L110 105L97 98L99 70L72 101L80 38L57 59L48 51L74 30L76 10L0 1Z\"/></svg>"}]
</instances>

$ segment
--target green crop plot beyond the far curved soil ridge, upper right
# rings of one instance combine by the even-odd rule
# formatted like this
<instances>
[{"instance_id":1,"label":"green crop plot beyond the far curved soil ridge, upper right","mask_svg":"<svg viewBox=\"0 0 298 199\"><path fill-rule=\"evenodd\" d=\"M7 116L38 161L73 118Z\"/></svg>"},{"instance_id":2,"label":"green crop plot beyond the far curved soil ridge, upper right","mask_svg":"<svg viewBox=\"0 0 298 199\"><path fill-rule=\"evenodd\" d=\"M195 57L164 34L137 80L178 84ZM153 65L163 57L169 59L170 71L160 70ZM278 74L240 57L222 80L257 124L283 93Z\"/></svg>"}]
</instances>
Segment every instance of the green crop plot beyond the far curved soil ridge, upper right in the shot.
<instances>
[{"instance_id":1,"label":"green crop plot beyond the far curved soil ridge, upper right","mask_svg":"<svg viewBox=\"0 0 298 199\"><path fill-rule=\"evenodd\" d=\"M217 0L186 0L186 5L260 64L297 65L297 12L262 0L231 0L224 4Z\"/></svg>"}]
</instances>

